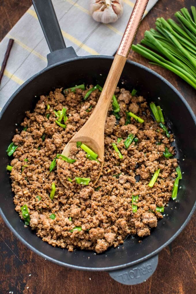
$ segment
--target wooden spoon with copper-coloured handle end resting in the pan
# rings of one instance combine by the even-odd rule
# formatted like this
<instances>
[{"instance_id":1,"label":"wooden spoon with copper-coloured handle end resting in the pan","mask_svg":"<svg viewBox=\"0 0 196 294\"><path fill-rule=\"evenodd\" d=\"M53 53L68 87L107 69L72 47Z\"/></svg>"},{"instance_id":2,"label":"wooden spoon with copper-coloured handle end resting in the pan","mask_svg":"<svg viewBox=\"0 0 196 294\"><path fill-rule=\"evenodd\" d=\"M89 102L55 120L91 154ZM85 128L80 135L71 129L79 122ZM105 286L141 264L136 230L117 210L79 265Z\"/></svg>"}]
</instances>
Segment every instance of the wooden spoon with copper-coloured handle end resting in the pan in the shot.
<instances>
[{"instance_id":1,"label":"wooden spoon with copper-coloured handle end resting in the pan","mask_svg":"<svg viewBox=\"0 0 196 294\"><path fill-rule=\"evenodd\" d=\"M135 6L123 34L123 38L120 42L118 51L114 57L112 66L105 81L105 85L103 86L103 90L101 92L97 105L93 113L89 117L88 121L71 138L71 140L66 144L62 152L62 155L69 157L71 147L73 145L76 146L77 141L81 141L89 148L91 148L94 152L96 152L98 154L98 157L101 159L100 173L102 171L104 162L104 127L108 108L110 106L112 96L120 79L125 62L127 60L127 56L129 54L131 45L133 43L140 21L142 20L147 4L148 0L137 0L135 2ZM66 183L63 181L61 173L59 172L60 161L61 159L59 159L57 163L58 176L61 183L64 186L67 186ZM96 181L94 181L94 185L98 181L100 173Z\"/></svg>"}]
</instances>

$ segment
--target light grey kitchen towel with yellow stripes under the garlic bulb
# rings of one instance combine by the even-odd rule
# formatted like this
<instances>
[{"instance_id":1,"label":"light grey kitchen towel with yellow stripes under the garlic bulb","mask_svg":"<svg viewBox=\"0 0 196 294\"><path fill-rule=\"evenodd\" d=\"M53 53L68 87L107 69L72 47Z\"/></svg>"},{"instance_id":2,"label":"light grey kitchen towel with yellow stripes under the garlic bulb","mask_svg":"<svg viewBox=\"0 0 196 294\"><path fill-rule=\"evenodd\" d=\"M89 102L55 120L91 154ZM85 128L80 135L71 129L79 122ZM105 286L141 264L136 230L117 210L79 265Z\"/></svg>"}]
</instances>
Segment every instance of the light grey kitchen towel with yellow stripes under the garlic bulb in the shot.
<instances>
[{"instance_id":1,"label":"light grey kitchen towel with yellow stripes under the garlic bulb","mask_svg":"<svg viewBox=\"0 0 196 294\"><path fill-rule=\"evenodd\" d=\"M41 1L41 0L39 0ZM149 0L145 15L158 0ZM113 55L118 48L135 0L123 0L124 12L113 24L101 24L89 13L89 0L53 0L66 46L78 56ZM14 39L0 86L0 110L28 78L47 65L49 49L33 6L0 43L0 64L9 38Z\"/></svg>"}]
</instances>

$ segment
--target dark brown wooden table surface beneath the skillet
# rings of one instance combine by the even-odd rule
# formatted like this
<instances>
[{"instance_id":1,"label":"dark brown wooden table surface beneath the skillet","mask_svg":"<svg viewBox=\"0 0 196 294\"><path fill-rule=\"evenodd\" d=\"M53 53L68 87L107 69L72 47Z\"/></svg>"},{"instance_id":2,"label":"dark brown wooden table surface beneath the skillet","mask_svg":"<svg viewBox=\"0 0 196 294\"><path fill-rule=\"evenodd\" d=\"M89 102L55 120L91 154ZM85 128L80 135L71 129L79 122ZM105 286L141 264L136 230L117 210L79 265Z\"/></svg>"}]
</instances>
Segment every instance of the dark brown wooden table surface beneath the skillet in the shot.
<instances>
[{"instance_id":1,"label":"dark brown wooden table surface beneath the skillet","mask_svg":"<svg viewBox=\"0 0 196 294\"><path fill-rule=\"evenodd\" d=\"M31 5L30 0L0 0L0 41ZM159 0L145 17L135 42L145 30L154 27L157 17L171 17L195 0ZM161 74L186 98L196 113L195 90L166 69L148 64L131 52L130 58ZM53 264L27 249L0 218L0 293L72 293L72 294L195 294L196 215L183 232L159 254L157 270L146 282L126 286L115 282L108 273L83 272ZM13 291L13 292L12 292Z\"/></svg>"}]
</instances>

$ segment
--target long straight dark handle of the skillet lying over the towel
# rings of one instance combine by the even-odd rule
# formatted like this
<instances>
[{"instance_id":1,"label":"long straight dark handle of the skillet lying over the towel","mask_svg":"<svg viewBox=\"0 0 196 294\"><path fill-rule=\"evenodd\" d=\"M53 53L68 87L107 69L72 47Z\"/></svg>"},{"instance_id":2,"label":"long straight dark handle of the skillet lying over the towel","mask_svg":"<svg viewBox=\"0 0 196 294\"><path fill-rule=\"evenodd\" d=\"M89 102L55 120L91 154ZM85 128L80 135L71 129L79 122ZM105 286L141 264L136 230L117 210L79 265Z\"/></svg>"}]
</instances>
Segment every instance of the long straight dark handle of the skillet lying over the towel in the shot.
<instances>
[{"instance_id":1,"label":"long straight dark handle of the skillet lying over the towel","mask_svg":"<svg viewBox=\"0 0 196 294\"><path fill-rule=\"evenodd\" d=\"M66 48L51 0L32 0L50 52Z\"/></svg>"}]
</instances>

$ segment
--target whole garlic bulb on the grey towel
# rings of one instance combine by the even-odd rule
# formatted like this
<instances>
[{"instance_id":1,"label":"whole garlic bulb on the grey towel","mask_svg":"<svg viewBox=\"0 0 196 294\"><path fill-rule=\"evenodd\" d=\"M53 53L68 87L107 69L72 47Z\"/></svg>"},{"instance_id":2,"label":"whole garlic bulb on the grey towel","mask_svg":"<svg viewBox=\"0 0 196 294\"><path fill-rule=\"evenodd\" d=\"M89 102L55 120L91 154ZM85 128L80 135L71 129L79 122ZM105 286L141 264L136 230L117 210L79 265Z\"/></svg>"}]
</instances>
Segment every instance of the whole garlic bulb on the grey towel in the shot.
<instances>
[{"instance_id":1,"label":"whole garlic bulb on the grey towel","mask_svg":"<svg viewBox=\"0 0 196 294\"><path fill-rule=\"evenodd\" d=\"M94 20L109 24L123 14L122 0L90 0L90 13Z\"/></svg>"}]
</instances>

